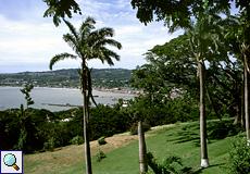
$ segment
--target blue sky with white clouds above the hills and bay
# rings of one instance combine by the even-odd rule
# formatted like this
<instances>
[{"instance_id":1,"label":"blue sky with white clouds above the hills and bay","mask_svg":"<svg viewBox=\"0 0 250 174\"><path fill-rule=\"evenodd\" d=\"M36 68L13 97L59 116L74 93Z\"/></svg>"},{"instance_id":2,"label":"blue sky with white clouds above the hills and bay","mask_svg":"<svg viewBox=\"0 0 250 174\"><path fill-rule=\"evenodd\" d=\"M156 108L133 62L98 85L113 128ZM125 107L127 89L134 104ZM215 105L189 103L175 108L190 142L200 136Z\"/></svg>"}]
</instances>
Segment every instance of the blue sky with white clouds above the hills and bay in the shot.
<instances>
[{"instance_id":1,"label":"blue sky with white clouds above the hills and bay","mask_svg":"<svg viewBox=\"0 0 250 174\"><path fill-rule=\"evenodd\" d=\"M110 66L99 60L88 62L93 69L129 69L146 63L145 55L155 45L163 45L183 32L167 33L163 22L145 26L136 18L130 0L76 0L82 15L74 14L68 21L78 29L80 23L92 16L96 28L112 27L113 39L120 41L122 50L111 48L121 60ZM70 33L61 23L55 27L52 17L43 17L48 9L42 0L0 0L0 73L50 71L49 62L58 53L74 53L62 39ZM80 61L66 59L54 64L53 70L77 69Z\"/></svg>"}]
</instances>

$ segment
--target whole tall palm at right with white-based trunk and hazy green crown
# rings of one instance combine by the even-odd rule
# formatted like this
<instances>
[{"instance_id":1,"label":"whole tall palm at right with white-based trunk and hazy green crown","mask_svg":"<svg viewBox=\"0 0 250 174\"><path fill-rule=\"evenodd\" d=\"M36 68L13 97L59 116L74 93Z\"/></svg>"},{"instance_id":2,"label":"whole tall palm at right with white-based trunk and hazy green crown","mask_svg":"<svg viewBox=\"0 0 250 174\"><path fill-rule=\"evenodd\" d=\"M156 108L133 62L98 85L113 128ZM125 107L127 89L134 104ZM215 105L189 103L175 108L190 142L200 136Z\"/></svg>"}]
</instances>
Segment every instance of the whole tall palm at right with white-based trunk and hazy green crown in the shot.
<instances>
[{"instance_id":1,"label":"whole tall palm at right with white-based trunk and hazy green crown","mask_svg":"<svg viewBox=\"0 0 250 174\"><path fill-rule=\"evenodd\" d=\"M214 53L224 53L221 47L224 35L222 33L223 20L218 12L203 4L198 13L196 23L189 22L185 33L189 36L190 47L193 58L198 64L197 76L200 80L200 141L201 141L201 166L209 166L208 148L207 148L207 119L205 119L205 64L204 61L211 61ZM178 26L174 26L170 32L174 32ZM223 58L223 57L222 57ZM218 61L218 60L217 60Z\"/></svg>"}]
</instances>

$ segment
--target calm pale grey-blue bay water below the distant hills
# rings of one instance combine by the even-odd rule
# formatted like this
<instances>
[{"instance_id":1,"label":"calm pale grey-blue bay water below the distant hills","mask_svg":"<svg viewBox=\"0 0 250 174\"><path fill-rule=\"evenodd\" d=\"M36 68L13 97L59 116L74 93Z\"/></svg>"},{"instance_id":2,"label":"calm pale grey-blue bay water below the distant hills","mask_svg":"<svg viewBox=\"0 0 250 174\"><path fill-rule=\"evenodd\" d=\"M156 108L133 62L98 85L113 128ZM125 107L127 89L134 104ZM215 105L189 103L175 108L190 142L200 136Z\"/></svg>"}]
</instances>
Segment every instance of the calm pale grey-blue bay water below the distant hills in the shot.
<instances>
[{"instance_id":1,"label":"calm pale grey-blue bay water below the distant hills","mask_svg":"<svg viewBox=\"0 0 250 174\"><path fill-rule=\"evenodd\" d=\"M12 108L20 108L21 103L26 108L25 95L20 89L22 87L0 87L0 110L7 110ZM107 91L92 91L97 103L114 104L117 101L113 101L113 98L123 98L125 100L132 99L135 96L129 94L107 92ZM30 92L32 99L35 104L30 105L36 109L47 109L50 111L67 110L70 107L57 107L45 105L42 103L50 104L64 104L83 105L83 96L79 89L66 89L66 88L34 88Z\"/></svg>"}]
</instances>

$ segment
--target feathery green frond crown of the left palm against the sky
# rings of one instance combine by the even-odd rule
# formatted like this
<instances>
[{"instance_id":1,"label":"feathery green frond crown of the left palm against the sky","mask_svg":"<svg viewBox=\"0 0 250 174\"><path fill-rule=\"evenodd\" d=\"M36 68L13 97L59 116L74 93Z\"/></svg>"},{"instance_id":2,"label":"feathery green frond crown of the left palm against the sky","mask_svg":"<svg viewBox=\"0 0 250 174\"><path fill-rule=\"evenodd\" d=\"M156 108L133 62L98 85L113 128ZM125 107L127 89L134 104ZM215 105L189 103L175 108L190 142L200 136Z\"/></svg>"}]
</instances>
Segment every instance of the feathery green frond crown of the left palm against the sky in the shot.
<instances>
[{"instance_id":1,"label":"feathery green frond crown of the left palm against the sky","mask_svg":"<svg viewBox=\"0 0 250 174\"><path fill-rule=\"evenodd\" d=\"M70 22L65 20L64 22L68 26L71 34L63 35L63 39L73 48L84 64L87 63L87 60L99 59L102 63L108 62L108 64L113 65L112 59L120 60L118 54L105 48L105 46L113 46L117 49L122 49L122 45L118 41L107 39L107 37L114 36L114 30L112 28L103 27L92 32L92 29L95 29L93 24L96 24L92 17L87 17L80 25L78 32ZM50 69L52 70L55 62L65 58L76 59L76 55L68 53L57 54L51 59Z\"/></svg>"}]
</instances>

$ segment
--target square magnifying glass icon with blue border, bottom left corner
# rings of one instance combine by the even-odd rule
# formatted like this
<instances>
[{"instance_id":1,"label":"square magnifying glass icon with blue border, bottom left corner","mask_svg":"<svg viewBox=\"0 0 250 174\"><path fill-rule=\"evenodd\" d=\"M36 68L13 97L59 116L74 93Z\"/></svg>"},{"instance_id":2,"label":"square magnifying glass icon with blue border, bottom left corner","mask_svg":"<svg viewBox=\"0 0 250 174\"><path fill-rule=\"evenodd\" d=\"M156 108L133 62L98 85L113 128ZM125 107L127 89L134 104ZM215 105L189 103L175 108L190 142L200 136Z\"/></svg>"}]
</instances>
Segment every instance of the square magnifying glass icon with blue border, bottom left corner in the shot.
<instances>
[{"instance_id":1,"label":"square magnifying glass icon with blue border, bottom left corner","mask_svg":"<svg viewBox=\"0 0 250 174\"><path fill-rule=\"evenodd\" d=\"M23 150L0 150L0 174L23 173Z\"/></svg>"}]
</instances>

